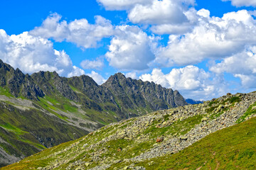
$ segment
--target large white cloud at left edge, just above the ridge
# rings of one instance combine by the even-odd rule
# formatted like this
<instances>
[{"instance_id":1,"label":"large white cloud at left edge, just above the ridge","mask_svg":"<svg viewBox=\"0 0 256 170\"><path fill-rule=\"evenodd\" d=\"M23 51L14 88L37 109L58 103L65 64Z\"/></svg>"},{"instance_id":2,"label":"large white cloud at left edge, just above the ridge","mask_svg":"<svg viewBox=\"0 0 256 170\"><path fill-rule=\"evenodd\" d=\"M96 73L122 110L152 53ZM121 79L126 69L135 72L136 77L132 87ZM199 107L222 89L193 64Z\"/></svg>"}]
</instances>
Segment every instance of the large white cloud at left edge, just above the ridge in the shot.
<instances>
[{"instance_id":1,"label":"large white cloud at left edge, just above the ridge","mask_svg":"<svg viewBox=\"0 0 256 170\"><path fill-rule=\"evenodd\" d=\"M28 32L10 36L4 30L0 30L0 58L28 74L56 71L62 76L68 76L75 72L65 51L54 50L53 42L34 37Z\"/></svg>"}]
</instances>

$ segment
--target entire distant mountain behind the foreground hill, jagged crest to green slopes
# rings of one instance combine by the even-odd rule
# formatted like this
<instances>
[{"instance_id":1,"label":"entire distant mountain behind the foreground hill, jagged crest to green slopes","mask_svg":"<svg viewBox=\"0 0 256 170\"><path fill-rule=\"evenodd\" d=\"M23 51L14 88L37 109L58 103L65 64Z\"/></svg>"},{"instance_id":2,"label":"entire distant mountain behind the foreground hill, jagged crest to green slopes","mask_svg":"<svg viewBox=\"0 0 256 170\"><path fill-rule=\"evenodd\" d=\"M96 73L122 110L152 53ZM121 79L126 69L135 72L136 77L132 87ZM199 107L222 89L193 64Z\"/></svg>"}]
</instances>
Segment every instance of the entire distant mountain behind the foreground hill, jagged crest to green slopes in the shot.
<instances>
[{"instance_id":1,"label":"entire distant mountain behind the foreground hill, jagged crest to green slopes","mask_svg":"<svg viewBox=\"0 0 256 170\"><path fill-rule=\"evenodd\" d=\"M0 166L119 120L186 105L178 91L113 77L99 86L85 75L23 74L0 60Z\"/></svg>"}]
</instances>

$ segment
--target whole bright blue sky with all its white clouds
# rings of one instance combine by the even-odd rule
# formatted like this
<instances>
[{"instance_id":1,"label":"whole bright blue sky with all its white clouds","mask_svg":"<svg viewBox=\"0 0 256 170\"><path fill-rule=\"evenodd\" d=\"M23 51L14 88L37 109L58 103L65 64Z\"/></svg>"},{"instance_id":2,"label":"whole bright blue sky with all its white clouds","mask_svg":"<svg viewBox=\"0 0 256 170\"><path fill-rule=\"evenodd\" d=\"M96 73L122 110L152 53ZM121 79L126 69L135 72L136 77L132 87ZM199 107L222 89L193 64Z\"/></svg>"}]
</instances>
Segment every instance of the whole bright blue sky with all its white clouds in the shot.
<instances>
[{"instance_id":1,"label":"whole bright blue sky with all its white clouds","mask_svg":"<svg viewBox=\"0 0 256 170\"><path fill-rule=\"evenodd\" d=\"M32 74L122 72L208 100L256 88L255 0L0 1L0 59Z\"/></svg>"}]
</instances>

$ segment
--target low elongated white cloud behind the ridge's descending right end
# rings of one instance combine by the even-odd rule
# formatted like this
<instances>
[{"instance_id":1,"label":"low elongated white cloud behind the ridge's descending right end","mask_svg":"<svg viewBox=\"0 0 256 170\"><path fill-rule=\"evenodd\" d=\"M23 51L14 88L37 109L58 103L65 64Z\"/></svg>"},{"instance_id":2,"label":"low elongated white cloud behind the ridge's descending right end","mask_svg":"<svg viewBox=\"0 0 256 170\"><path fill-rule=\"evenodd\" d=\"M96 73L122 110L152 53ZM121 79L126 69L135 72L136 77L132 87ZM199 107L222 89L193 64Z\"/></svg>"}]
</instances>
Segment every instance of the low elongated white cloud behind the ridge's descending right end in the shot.
<instances>
[{"instance_id":1,"label":"low elongated white cloud behind the ridge's descending right end","mask_svg":"<svg viewBox=\"0 0 256 170\"><path fill-rule=\"evenodd\" d=\"M154 81L166 88L177 89L186 98L197 100L221 96L226 90L225 81L221 77L191 65L172 69L169 74L164 74L161 69L153 69L151 74L143 74L139 79Z\"/></svg>"}]
</instances>

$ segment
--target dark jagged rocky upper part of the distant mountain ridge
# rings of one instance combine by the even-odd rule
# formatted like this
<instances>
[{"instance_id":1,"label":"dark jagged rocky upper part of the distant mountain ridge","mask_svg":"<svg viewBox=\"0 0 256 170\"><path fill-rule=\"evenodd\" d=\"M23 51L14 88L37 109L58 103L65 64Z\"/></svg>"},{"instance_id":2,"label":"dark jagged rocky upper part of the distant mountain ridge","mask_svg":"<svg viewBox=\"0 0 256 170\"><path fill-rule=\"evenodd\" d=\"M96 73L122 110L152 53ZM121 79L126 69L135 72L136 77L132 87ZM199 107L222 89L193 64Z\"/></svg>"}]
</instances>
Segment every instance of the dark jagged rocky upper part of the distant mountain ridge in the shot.
<instances>
[{"instance_id":1,"label":"dark jagged rocky upper part of the distant mountain ridge","mask_svg":"<svg viewBox=\"0 0 256 170\"><path fill-rule=\"evenodd\" d=\"M56 72L38 72L30 76L2 61L0 73L1 87L14 97L40 101L45 96L60 94L70 101L82 103L85 108L113 110L121 117L117 120L122 120L124 115L134 117L148 111L187 104L178 91L163 88L154 82L126 78L121 73L111 76L102 86L85 75L65 78Z\"/></svg>"}]
</instances>

